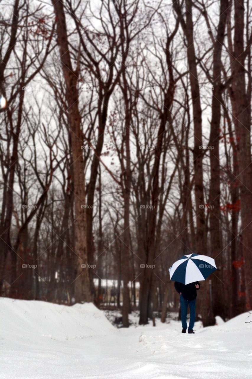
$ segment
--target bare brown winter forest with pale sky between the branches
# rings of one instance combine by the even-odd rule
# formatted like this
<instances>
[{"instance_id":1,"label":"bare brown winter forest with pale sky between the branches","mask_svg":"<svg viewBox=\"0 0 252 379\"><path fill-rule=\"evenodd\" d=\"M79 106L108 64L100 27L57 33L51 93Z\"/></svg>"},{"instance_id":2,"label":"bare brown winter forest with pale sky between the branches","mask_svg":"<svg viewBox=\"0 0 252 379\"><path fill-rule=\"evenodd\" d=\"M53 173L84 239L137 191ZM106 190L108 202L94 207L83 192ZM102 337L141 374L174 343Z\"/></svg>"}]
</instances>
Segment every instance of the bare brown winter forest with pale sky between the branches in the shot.
<instances>
[{"instance_id":1,"label":"bare brown winter forest with pale sky between the branches","mask_svg":"<svg viewBox=\"0 0 252 379\"><path fill-rule=\"evenodd\" d=\"M203 325L251 310L251 2L0 5L0 296L155 325L196 253Z\"/></svg>"}]
</instances>

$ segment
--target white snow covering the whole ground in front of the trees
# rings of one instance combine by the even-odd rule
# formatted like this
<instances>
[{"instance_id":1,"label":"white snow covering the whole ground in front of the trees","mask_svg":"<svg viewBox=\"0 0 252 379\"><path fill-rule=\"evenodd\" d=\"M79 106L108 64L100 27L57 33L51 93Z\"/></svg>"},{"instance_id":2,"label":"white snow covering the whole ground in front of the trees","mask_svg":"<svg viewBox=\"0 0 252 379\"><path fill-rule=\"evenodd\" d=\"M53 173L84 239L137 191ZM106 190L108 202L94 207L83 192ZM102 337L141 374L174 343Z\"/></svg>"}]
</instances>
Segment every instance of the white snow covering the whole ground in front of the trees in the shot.
<instances>
[{"instance_id":1,"label":"white snow covering the whole ground in front of the trees","mask_svg":"<svg viewBox=\"0 0 252 379\"><path fill-rule=\"evenodd\" d=\"M93 304L0 298L1 378L251 379L252 315L116 329ZM247 321L247 323L246 323Z\"/></svg>"}]
</instances>

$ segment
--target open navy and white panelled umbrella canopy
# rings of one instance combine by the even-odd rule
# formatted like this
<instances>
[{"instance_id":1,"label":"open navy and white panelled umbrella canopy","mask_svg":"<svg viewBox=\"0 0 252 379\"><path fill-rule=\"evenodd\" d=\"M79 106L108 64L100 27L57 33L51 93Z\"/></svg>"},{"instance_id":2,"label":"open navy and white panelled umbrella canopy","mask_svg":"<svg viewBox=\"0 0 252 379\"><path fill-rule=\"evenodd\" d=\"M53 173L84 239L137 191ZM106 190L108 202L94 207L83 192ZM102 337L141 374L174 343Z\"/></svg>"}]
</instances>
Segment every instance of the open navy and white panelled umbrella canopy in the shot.
<instances>
[{"instance_id":1,"label":"open navy and white panelled umbrella canopy","mask_svg":"<svg viewBox=\"0 0 252 379\"><path fill-rule=\"evenodd\" d=\"M207 255L183 255L169 268L170 280L183 284L205 280L217 269L215 260Z\"/></svg>"}]
</instances>

